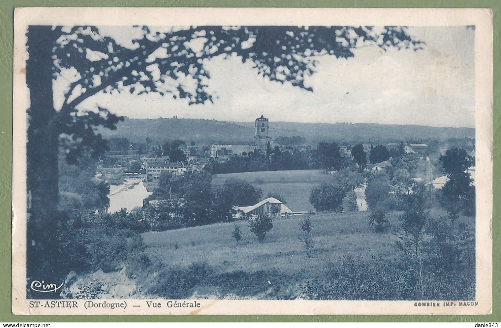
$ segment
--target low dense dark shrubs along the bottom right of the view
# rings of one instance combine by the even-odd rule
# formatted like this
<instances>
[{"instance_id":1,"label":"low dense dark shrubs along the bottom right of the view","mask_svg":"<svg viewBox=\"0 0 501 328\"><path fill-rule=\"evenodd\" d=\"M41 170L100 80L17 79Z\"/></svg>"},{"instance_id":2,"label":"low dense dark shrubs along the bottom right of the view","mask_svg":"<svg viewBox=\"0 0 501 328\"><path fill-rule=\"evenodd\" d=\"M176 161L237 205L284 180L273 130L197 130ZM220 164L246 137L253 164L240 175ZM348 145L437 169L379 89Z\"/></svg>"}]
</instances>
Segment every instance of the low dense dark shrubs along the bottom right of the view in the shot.
<instances>
[{"instance_id":1,"label":"low dense dark shrubs along the bottom right of the view","mask_svg":"<svg viewBox=\"0 0 501 328\"><path fill-rule=\"evenodd\" d=\"M403 253L387 257L375 254L367 261L343 256L341 262L328 263L323 276L302 282L305 299L433 300L474 299L475 277L471 271L431 270L422 263L421 292L416 270L419 263Z\"/></svg>"}]
</instances>

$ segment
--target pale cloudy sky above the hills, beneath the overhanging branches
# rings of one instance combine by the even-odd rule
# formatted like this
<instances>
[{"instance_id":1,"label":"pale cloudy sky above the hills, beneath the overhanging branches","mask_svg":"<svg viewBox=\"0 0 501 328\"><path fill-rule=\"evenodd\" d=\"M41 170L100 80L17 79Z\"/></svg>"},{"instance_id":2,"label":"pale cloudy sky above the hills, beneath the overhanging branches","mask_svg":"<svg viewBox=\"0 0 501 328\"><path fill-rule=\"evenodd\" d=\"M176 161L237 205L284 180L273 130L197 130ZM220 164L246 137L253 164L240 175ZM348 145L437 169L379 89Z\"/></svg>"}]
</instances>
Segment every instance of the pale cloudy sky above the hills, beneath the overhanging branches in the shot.
<instances>
[{"instance_id":1,"label":"pale cloudy sky above the hills, beneath the overhanging branches","mask_svg":"<svg viewBox=\"0 0 501 328\"><path fill-rule=\"evenodd\" d=\"M123 38L123 31L102 33ZM313 92L271 82L238 58L217 57L206 64L214 103L122 93L96 95L80 107L101 106L130 118L248 122L263 114L271 121L474 127L474 30L411 27L409 33L426 43L423 50L368 46L347 60L319 57L307 81Z\"/></svg>"}]
</instances>

